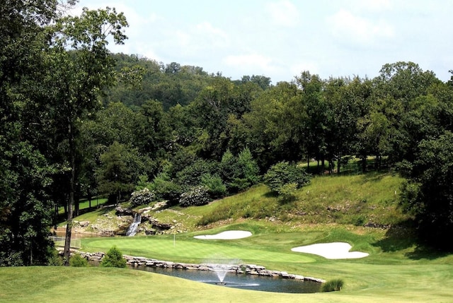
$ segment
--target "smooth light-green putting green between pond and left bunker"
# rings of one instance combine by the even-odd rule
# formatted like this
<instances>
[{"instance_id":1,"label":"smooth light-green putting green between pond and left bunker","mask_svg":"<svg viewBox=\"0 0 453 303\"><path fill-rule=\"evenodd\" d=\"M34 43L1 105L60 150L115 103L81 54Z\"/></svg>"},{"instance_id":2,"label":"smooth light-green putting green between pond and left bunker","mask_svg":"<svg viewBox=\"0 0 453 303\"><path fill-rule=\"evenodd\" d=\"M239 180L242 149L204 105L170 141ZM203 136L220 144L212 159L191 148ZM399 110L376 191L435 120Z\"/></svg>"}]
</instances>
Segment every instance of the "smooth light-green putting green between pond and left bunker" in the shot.
<instances>
[{"instance_id":1,"label":"smooth light-green putting green between pond and left bunker","mask_svg":"<svg viewBox=\"0 0 453 303\"><path fill-rule=\"evenodd\" d=\"M237 228L244 227L235 226L234 229ZM82 245L86 251L106 251L111 246L117 246L123 254L180 262L203 263L214 256L216 259L240 259L245 263L315 261L311 256L294 254L290 251L291 245L303 242L300 236L297 237L299 241L292 239L295 234L274 234L275 237L265 237L263 234L228 241L205 241L193 239L192 236L193 234L176 234L157 237L90 238L83 239ZM284 238L285 240L280 240Z\"/></svg>"}]
</instances>

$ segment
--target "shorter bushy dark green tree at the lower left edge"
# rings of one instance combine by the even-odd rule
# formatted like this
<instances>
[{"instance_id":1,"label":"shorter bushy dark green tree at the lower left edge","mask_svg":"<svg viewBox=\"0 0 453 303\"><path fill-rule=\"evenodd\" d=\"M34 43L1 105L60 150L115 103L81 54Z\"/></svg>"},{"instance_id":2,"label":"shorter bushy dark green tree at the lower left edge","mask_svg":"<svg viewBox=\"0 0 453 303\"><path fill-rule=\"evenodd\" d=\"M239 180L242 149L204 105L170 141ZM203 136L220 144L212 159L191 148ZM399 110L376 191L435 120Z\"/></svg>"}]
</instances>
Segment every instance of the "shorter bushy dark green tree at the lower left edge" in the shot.
<instances>
[{"instance_id":1,"label":"shorter bushy dark green tree at the lower left edge","mask_svg":"<svg viewBox=\"0 0 453 303\"><path fill-rule=\"evenodd\" d=\"M29 143L12 144L0 159L0 266L45 264L52 256L49 185L52 166Z\"/></svg>"}]
</instances>

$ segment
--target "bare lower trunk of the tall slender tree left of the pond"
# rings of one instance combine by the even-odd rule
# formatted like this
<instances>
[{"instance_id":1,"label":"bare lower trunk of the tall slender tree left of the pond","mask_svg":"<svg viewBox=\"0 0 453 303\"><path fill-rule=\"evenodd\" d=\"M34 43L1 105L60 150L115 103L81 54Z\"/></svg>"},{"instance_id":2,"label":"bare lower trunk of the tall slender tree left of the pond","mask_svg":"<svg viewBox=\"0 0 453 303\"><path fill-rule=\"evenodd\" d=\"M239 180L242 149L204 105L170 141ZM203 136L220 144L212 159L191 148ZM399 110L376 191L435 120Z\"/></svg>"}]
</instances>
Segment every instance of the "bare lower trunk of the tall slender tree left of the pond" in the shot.
<instances>
[{"instance_id":1,"label":"bare lower trunk of the tall slender tree left of the pond","mask_svg":"<svg viewBox=\"0 0 453 303\"><path fill-rule=\"evenodd\" d=\"M69 266L69 257L71 256L71 230L72 220L74 218L74 184L76 179L76 154L74 150L74 129L69 123L69 158L71 160L71 179L69 180L69 202L68 202L68 218L66 225L66 237L64 239L64 265Z\"/></svg>"}]
</instances>

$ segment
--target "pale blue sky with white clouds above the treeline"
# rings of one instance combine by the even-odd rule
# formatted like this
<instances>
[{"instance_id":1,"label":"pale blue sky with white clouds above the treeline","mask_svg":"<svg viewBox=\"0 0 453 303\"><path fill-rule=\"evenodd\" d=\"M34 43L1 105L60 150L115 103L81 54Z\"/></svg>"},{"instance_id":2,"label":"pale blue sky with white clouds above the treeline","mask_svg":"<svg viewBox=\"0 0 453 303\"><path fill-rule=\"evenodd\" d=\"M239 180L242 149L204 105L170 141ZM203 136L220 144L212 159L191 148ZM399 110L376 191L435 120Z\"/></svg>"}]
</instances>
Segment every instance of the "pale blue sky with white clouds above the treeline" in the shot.
<instances>
[{"instance_id":1,"label":"pale blue sky with white clouds above the treeline","mask_svg":"<svg viewBox=\"0 0 453 303\"><path fill-rule=\"evenodd\" d=\"M374 78L412 61L448 81L453 69L450 0L79 0L115 7L129 27L111 52L200 66L236 80L273 84L302 71L321 78Z\"/></svg>"}]
</instances>

